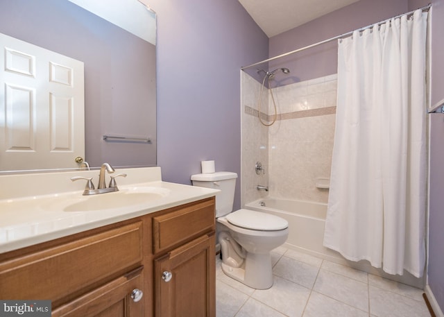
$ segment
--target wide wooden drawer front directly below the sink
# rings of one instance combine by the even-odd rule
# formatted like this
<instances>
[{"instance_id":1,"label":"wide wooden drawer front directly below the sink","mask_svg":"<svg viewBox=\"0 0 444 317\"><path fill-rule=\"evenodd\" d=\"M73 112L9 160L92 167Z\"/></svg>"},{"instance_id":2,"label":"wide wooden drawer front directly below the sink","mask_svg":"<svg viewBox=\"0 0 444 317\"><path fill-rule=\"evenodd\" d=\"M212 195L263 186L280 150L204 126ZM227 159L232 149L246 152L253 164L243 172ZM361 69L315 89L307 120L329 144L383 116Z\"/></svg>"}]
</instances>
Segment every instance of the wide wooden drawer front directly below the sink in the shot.
<instances>
[{"instance_id":1,"label":"wide wooden drawer front directly below the sink","mask_svg":"<svg viewBox=\"0 0 444 317\"><path fill-rule=\"evenodd\" d=\"M0 260L0 298L51 300L58 307L73 294L92 291L142 263L142 222L121 225L40 250L33 246ZM17 253L17 252L16 252ZM103 283L101 283L103 281Z\"/></svg>"}]
</instances>

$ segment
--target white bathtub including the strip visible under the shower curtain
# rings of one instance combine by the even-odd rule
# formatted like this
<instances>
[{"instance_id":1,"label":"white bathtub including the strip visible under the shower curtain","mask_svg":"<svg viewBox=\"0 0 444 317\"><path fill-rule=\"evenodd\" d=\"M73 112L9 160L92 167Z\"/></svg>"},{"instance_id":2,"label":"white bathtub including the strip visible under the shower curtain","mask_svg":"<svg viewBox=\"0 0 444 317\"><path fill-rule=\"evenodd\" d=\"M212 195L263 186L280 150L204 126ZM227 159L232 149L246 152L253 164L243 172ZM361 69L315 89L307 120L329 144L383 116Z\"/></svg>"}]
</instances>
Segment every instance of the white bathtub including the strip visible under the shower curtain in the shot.
<instances>
[{"instance_id":1,"label":"white bathtub including the strip visible under the shower curtain","mask_svg":"<svg viewBox=\"0 0 444 317\"><path fill-rule=\"evenodd\" d=\"M323 239L327 204L267 197L248 203L245 208L274 214L287 220L289 222L289 237L284 243L286 248L357 268L360 271L386 277L419 289L424 286L423 278L413 277L408 272L404 272L404 275L388 275L381 269L373 268L366 261L350 262L338 252L325 248Z\"/></svg>"}]
</instances>

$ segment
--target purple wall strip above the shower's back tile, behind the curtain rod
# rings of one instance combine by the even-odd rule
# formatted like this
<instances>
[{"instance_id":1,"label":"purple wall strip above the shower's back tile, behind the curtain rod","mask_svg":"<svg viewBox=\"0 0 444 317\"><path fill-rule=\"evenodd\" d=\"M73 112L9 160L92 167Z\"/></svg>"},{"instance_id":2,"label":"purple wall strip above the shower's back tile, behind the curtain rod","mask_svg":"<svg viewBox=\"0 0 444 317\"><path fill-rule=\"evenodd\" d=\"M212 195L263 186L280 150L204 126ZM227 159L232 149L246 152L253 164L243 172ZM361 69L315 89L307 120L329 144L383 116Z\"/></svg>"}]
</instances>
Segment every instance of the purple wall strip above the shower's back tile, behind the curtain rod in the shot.
<instances>
[{"instance_id":1,"label":"purple wall strip above the shower's back tile, behind the curtain rod","mask_svg":"<svg viewBox=\"0 0 444 317\"><path fill-rule=\"evenodd\" d=\"M312 22L271 37L270 57L348 33L407 11L407 0L357 1ZM291 82L283 83L284 85L336 74L337 42L328 42L270 62L271 69L277 67L287 67L291 71Z\"/></svg>"}]
</instances>

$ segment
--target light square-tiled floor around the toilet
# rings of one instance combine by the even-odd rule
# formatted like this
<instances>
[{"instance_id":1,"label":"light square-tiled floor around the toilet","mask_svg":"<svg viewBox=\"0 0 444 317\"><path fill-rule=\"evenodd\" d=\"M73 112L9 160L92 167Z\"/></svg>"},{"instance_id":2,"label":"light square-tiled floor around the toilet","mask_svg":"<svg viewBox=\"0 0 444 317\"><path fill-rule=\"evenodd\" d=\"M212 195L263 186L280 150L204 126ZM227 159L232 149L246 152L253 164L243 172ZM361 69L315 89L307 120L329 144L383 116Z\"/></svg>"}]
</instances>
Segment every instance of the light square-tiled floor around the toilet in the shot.
<instances>
[{"instance_id":1,"label":"light square-tiled floor around the toilet","mask_svg":"<svg viewBox=\"0 0 444 317\"><path fill-rule=\"evenodd\" d=\"M430 317L422 290L287 248L272 252L274 284L255 290L216 257L216 317Z\"/></svg>"}]
</instances>

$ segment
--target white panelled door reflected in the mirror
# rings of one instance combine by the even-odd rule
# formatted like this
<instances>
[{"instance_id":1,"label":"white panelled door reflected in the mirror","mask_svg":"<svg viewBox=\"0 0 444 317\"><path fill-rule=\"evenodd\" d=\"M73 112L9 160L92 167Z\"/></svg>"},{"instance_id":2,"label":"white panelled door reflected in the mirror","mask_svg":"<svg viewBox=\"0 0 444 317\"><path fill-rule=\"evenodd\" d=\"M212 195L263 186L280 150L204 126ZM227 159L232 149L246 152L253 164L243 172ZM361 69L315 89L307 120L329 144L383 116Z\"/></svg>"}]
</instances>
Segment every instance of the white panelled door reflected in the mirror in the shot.
<instances>
[{"instance_id":1,"label":"white panelled door reflected in the mirror","mask_svg":"<svg viewBox=\"0 0 444 317\"><path fill-rule=\"evenodd\" d=\"M0 44L0 170L76 167L85 157L83 62L1 33Z\"/></svg>"}]
</instances>

